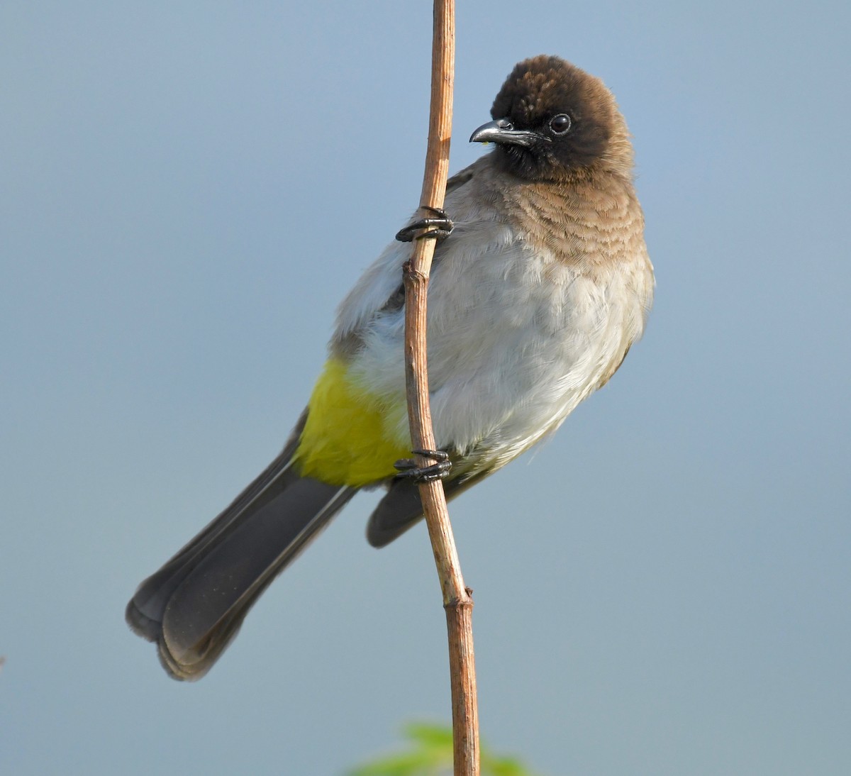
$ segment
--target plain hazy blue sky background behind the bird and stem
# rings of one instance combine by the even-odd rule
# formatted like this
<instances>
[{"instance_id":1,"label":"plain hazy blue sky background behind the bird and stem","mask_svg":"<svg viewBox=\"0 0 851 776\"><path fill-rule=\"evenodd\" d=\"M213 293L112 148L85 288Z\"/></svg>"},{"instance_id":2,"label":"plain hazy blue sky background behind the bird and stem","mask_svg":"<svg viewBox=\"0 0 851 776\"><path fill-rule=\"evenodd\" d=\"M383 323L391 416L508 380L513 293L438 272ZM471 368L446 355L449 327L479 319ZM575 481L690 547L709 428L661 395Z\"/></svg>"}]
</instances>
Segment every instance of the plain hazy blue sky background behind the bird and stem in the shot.
<instances>
[{"instance_id":1,"label":"plain hazy blue sky background behind the bird and stem","mask_svg":"<svg viewBox=\"0 0 851 776\"><path fill-rule=\"evenodd\" d=\"M540 773L851 772L847 3L461 3L452 168L559 54L635 134L648 333L454 502L483 735ZM123 623L277 454L417 204L428 3L0 5L0 771L343 773L448 719L355 500L203 682Z\"/></svg>"}]
</instances>

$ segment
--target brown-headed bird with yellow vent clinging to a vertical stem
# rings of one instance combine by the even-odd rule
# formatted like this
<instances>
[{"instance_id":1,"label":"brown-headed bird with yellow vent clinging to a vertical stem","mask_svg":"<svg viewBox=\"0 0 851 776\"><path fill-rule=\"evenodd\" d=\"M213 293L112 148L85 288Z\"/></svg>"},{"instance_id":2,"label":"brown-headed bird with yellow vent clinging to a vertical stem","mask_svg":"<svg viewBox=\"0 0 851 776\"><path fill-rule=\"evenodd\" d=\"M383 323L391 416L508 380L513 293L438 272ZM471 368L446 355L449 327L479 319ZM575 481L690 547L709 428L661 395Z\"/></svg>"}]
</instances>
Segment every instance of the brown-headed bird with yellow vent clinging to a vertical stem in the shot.
<instances>
[{"instance_id":1,"label":"brown-headed bird with yellow vent clinging to a vertical stem","mask_svg":"<svg viewBox=\"0 0 851 776\"><path fill-rule=\"evenodd\" d=\"M427 220L439 232L427 300L429 470L448 499L603 387L642 336L654 296L631 134L603 82L535 56L514 67L490 115L470 140L491 147L448 180L445 218ZM425 223L401 231L340 304L328 360L281 454L129 602L131 629L157 644L175 679L208 672L260 594L359 490L385 490L368 520L371 545L420 521L416 475L429 475L405 471L402 278L403 241Z\"/></svg>"}]
</instances>

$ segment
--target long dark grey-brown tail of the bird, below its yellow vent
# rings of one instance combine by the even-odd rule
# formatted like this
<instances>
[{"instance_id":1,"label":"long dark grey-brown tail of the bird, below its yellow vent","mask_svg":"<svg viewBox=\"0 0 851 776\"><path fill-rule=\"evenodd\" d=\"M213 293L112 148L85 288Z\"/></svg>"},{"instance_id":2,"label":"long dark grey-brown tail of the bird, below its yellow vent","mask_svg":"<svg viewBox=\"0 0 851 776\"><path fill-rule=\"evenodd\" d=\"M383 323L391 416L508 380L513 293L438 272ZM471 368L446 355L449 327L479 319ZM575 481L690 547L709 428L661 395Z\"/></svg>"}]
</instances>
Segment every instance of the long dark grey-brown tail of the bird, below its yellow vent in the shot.
<instances>
[{"instance_id":1,"label":"long dark grey-brown tail of the bird, below its yellow vent","mask_svg":"<svg viewBox=\"0 0 851 776\"><path fill-rule=\"evenodd\" d=\"M130 627L157 642L175 679L200 679L272 579L356 493L293 471L292 445L127 606Z\"/></svg>"}]
</instances>

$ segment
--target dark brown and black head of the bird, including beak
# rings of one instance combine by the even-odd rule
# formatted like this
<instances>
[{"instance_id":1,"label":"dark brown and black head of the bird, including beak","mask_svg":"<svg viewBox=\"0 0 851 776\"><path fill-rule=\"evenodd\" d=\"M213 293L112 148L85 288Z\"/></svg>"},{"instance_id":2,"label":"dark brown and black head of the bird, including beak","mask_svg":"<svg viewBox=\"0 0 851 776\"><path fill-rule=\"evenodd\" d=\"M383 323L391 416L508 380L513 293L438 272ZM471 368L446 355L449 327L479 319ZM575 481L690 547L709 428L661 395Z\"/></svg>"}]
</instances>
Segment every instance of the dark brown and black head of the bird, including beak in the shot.
<instances>
[{"instance_id":1,"label":"dark brown and black head of the bird, including beak","mask_svg":"<svg viewBox=\"0 0 851 776\"><path fill-rule=\"evenodd\" d=\"M563 180L603 158L617 108L597 78L557 57L521 62L471 140L497 144L504 167L527 180Z\"/></svg>"}]
</instances>

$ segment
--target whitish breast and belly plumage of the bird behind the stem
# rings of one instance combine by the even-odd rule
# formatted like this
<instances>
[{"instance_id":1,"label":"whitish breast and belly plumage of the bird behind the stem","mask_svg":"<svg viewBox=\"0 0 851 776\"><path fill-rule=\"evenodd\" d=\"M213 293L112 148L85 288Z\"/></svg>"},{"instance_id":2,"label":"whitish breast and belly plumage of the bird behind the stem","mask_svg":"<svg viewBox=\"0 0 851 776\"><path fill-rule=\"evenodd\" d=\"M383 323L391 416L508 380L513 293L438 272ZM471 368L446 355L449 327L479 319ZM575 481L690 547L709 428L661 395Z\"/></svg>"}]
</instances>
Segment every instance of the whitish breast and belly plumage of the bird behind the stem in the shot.
<instances>
[{"instance_id":1,"label":"whitish breast and belly plumage of the bird behind the stem","mask_svg":"<svg viewBox=\"0 0 851 776\"><path fill-rule=\"evenodd\" d=\"M642 334L652 274L646 256L631 257L593 279L458 199L447 202L456 228L431 273L431 414L438 447L477 448L482 465L498 466L554 431L617 368ZM409 254L393 244L366 271L340 307L337 334L363 339L350 374L386 399L387 430L403 445L403 311L378 311Z\"/></svg>"}]
</instances>

